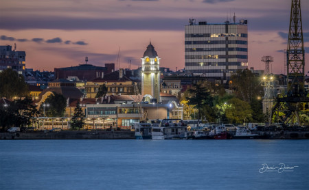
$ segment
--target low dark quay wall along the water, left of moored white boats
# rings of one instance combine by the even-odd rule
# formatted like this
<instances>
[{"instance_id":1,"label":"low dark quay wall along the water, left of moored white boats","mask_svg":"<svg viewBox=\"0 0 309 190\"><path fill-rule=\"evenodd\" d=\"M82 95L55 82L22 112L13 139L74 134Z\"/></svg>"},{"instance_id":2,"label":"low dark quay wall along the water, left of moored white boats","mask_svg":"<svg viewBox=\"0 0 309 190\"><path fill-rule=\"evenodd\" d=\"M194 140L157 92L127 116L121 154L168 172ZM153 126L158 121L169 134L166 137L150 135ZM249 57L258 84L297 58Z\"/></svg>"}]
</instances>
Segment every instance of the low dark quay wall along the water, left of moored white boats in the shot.
<instances>
[{"instance_id":1,"label":"low dark quay wall along the water, left of moored white boats","mask_svg":"<svg viewBox=\"0 0 309 190\"><path fill-rule=\"evenodd\" d=\"M0 139L135 139L133 131L60 131L0 133Z\"/></svg>"}]
</instances>

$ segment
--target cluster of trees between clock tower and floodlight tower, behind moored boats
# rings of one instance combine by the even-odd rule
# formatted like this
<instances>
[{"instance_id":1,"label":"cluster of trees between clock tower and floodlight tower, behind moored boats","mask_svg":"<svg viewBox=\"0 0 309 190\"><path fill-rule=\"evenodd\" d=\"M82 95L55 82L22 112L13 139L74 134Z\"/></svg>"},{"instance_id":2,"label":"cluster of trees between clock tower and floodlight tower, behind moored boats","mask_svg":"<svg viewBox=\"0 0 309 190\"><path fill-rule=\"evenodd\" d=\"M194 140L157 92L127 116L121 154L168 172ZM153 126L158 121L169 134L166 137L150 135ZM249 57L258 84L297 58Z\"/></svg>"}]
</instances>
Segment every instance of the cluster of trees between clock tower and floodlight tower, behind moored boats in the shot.
<instances>
[{"instance_id":1,"label":"cluster of trees between clock tower and floodlight tower, behind moored boats","mask_svg":"<svg viewBox=\"0 0 309 190\"><path fill-rule=\"evenodd\" d=\"M196 83L181 97L184 119L203 122L263 122L260 78L250 70L238 70L231 76L229 88L208 81Z\"/></svg>"}]
</instances>

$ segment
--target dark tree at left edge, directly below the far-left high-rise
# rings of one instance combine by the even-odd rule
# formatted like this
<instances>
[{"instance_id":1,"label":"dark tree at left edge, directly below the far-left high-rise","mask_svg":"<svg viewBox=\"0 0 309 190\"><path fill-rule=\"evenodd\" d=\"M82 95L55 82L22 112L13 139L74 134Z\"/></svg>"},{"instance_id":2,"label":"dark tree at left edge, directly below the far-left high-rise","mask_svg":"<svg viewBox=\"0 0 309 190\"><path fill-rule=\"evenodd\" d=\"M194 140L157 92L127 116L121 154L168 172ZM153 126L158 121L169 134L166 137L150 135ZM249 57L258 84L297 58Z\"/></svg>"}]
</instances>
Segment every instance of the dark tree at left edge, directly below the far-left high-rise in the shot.
<instances>
[{"instance_id":1,"label":"dark tree at left edge, directly below the far-left high-rise","mask_svg":"<svg viewBox=\"0 0 309 190\"><path fill-rule=\"evenodd\" d=\"M22 74L8 68L0 72L0 97L25 97L29 90Z\"/></svg>"}]
</instances>

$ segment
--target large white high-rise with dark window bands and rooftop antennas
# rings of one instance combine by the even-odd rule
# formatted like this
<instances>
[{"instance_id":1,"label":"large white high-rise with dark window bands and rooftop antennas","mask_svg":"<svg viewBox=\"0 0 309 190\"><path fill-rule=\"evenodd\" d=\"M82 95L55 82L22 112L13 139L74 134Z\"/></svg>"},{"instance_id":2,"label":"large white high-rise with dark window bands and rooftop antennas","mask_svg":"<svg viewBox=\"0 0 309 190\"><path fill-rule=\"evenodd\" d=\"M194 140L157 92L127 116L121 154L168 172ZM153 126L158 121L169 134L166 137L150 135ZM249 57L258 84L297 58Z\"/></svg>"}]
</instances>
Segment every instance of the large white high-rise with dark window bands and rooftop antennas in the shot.
<instances>
[{"instance_id":1,"label":"large white high-rise with dark window bands and rooftop antennas","mask_svg":"<svg viewBox=\"0 0 309 190\"><path fill-rule=\"evenodd\" d=\"M248 66L247 20L239 23L196 23L185 26L185 70L225 81Z\"/></svg>"}]
</instances>

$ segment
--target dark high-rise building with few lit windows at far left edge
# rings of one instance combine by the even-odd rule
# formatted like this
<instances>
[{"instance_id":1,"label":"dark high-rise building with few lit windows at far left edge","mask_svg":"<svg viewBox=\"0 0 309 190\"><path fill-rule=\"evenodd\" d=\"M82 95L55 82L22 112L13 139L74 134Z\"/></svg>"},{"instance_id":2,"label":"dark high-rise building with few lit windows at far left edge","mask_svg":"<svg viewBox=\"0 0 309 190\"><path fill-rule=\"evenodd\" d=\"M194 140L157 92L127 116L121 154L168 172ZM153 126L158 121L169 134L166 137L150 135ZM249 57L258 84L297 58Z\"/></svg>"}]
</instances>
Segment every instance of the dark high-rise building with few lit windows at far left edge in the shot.
<instances>
[{"instance_id":1,"label":"dark high-rise building with few lit windows at far left edge","mask_svg":"<svg viewBox=\"0 0 309 190\"><path fill-rule=\"evenodd\" d=\"M0 46L0 72L12 68L19 74L25 74L25 51L16 51L16 45Z\"/></svg>"}]
</instances>

